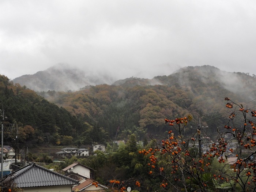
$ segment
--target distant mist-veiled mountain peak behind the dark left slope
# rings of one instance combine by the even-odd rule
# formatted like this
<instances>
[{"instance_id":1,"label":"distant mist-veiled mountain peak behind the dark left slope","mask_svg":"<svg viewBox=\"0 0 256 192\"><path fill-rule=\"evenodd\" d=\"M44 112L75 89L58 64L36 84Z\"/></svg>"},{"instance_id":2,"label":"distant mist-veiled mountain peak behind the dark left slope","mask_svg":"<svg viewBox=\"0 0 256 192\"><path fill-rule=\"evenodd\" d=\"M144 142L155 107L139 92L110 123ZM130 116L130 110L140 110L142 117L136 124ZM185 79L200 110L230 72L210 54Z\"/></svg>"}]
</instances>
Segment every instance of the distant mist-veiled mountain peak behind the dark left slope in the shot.
<instances>
[{"instance_id":1,"label":"distant mist-veiled mountain peak behind the dark left slope","mask_svg":"<svg viewBox=\"0 0 256 192\"><path fill-rule=\"evenodd\" d=\"M111 84L114 79L103 71L93 72L60 63L33 75L22 75L12 81L34 91L74 91L88 85Z\"/></svg>"}]
</instances>

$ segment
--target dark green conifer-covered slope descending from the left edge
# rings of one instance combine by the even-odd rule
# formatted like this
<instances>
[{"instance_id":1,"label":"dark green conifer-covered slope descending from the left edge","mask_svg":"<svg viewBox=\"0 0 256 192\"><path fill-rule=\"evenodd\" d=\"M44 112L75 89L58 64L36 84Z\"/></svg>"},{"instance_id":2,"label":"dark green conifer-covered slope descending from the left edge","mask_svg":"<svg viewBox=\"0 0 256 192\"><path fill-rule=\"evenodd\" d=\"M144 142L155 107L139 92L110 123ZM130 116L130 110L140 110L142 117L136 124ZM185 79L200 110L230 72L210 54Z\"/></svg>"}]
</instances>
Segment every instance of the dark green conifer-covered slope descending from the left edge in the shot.
<instances>
[{"instance_id":1,"label":"dark green conifer-covered slope descending from the left edge","mask_svg":"<svg viewBox=\"0 0 256 192\"><path fill-rule=\"evenodd\" d=\"M76 116L4 75L0 75L0 101L5 144L14 145L16 136L21 144L67 145L76 138L80 123Z\"/></svg>"}]
</instances>

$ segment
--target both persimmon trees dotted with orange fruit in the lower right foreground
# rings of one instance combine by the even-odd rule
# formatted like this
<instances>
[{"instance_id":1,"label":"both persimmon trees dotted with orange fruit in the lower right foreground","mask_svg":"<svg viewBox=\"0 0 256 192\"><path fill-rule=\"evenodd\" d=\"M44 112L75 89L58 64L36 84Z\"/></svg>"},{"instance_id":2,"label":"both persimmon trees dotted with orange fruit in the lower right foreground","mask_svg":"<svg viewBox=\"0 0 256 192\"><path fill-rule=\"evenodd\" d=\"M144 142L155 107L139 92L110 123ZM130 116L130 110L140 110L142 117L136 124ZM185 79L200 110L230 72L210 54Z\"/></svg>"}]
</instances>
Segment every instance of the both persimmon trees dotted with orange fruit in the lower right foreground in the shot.
<instances>
[{"instance_id":1,"label":"both persimmon trees dotted with orange fruit in the lower right foreground","mask_svg":"<svg viewBox=\"0 0 256 192\"><path fill-rule=\"evenodd\" d=\"M198 146L200 129L191 136L184 136L184 129L192 116L165 118L170 129L166 138L157 141L150 136L154 145L139 151L148 158L152 177L161 177L159 191L255 191L256 162L255 120L256 110L225 98L228 120L217 139L201 154ZM250 115L249 115L250 114ZM242 121L242 123L241 123ZM247 153L250 151L250 153ZM246 152L246 153L245 153ZM229 161L227 154L234 154Z\"/></svg>"}]
</instances>

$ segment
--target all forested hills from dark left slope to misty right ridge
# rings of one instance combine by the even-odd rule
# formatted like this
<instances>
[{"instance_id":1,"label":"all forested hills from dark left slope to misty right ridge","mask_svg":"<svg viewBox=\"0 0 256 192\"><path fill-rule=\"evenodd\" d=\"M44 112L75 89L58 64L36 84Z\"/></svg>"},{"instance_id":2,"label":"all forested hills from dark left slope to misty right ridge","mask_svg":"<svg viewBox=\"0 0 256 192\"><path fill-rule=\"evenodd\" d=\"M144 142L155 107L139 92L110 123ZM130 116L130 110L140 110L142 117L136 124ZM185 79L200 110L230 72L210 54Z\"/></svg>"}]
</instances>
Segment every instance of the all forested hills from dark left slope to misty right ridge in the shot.
<instances>
[{"instance_id":1,"label":"all forested hills from dark left slope to misty right ridge","mask_svg":"<svg viewBox=\"0 0 256 192\"><path fill-rule=\"evenodd\" d=\"M212 136L223 126L225 97L255 106L255 75L220 71L208 65L182 68L153 79L128 78L112 85L86 86L79 91L35 93L26 86L0 78L0 101L5 110L5 138L20 142L82 146L107 141L137 140L166 133L164 118L191 114L189 127L200 117ZM41 95L41 96L39 96ZM54 103L54 104L53 104ZM191 129L184 132L188 135Z\"/></svg>"}]
</instances>

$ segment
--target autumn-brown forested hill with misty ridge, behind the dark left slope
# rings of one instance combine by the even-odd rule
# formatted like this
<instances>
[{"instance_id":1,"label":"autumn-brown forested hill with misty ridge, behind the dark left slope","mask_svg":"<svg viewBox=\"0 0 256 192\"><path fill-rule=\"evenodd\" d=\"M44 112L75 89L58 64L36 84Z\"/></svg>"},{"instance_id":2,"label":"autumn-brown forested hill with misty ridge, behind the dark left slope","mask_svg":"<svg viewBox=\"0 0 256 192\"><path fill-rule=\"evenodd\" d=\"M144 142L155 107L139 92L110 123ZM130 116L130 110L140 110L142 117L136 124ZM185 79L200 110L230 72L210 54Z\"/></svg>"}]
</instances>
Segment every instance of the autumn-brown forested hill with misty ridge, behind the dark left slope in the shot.
<instances>
[{"instance_id":1,"label":"autumn-brown forested hill with misty ridge, behind the dark left slope","mask_svg":"<svg viewBox=\"0 0 256 192\"><path fill-rule=\"evenodd\" d=\"M234 101L255 105L254 82L255 75L205 65L182 68L151 80L128 78L112 85L87 86L74 93L48 91L40 95L84 121L97 123L110 139L115 138L118 127L117 139L127 139L133 132L142 139L146 133L163 134L163 118L186 114L194 117L190 126L197 126L200 117L209 127L207 133L216 132L222 114L227 112L221 107L222 99L232 96Z\"/></svg>"}]
</instances>

